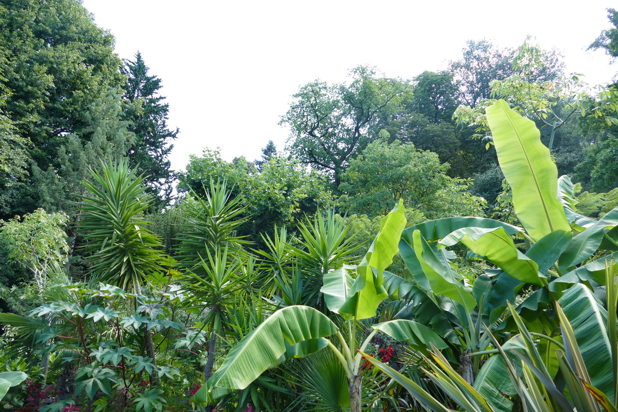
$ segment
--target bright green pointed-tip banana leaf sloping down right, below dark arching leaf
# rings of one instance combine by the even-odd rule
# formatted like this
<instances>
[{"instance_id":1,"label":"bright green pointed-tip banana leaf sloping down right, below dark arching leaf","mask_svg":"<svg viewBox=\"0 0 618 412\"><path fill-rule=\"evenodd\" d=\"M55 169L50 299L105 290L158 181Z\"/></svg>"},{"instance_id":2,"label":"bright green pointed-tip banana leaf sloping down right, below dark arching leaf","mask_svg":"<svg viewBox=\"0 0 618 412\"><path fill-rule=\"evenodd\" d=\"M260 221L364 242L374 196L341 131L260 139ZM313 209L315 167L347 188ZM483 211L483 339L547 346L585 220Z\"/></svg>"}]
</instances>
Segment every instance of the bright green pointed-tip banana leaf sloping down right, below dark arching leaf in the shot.
<instances>
[{"instance_id":1,"label":"bright green pointed-tip banana leaf sloping down right, below dark arching leaf","mask_svg":"<svg viewBox=\"0 0 618 412\"><path fill-rule=\"evenodd\" d=\"M466 311L472 312L476 301L472 296L472 290L460 281L459 274L455 273L452 268L442 265L431 246L423 239L420 231L415 230L412 239L415 254L423 269L422 275L414 277L418 285L436 295L451 298L464 306Z\"/></svg>"}]
</instances>

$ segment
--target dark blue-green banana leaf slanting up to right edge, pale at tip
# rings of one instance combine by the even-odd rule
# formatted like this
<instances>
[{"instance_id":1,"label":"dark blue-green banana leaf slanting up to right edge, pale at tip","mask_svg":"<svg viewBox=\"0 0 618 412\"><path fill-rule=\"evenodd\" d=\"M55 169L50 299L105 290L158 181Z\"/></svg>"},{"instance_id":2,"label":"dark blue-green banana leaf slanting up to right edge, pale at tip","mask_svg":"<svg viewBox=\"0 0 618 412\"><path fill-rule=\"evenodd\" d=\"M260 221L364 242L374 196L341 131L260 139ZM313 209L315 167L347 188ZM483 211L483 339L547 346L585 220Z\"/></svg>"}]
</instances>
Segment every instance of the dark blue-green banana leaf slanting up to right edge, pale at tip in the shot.
<instances>
[{"instance_id":1,"label":"dark blue-green banana leaf slanting up to right edge, pale at tip","mask_svg":"<svg viewBox=\"0 0 618 412\"><path fill-rule=\"evenodd\" d=\"M575 266L595 254L603 240L605 228L616 225L618 225L618 208L611 210L603 218L596 221L594 225L589 226L585 231L573 238L560 256L560 267L568 268Z\"/></svg>"}]
</instances>

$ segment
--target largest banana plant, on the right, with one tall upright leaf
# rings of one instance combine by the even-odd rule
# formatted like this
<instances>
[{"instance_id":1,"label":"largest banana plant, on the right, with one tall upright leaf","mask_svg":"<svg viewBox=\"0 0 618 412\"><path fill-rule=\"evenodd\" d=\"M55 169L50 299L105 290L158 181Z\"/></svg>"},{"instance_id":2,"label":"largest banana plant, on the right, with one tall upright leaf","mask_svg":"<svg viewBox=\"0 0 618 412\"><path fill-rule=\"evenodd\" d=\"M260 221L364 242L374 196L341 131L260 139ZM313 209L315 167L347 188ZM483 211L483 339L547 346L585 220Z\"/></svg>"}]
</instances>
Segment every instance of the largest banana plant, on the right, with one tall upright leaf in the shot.
<instances>
[{"instance_id":1,"label":"largest banana plant, on the right, with one tall upright leaf","mask_svg":"<svg viewBox=\"0 0 618 412\"><path fill-rule=\"evenodd\" d=\"M425 324L441 337L450 337L446 339L449 344L458 346L464 355L466 351L483 353L491 344L483 324L489 330L517 330L512 315L506 322L496 322L507 301L514 302L526 285L533 293L516 312L529 322L535 321L530 324L531 332L559 335L557 319L543 309L551 311L554 302L576 283L592 292L606 286L605 269L607 265L616 267L612 256L618 251L618 208L598 221L577 213L573 185L566 177L558 179L556 165L541 143L534 122L522 118L501 100L487 109L487 118L523 228L476 217L445 218L412 226L402 233L399 248L413 278L412 285L404 289L417 297L410 299L401 293L397 289L402 287L400 280L389 285L391 297L399 295L404 301L391 304L397 309L396 319L420 320L426 317L420 307L430 308L433 315ZM522 244L514 238L523 239L528 250L523 252ZM447 248L457 244L469 249L468 257L494 267L477 277L472 287L451 262L454 254ZM611 254L599 259L598 252L603 251ZM411 302L405 303L406 298ZM584 356L600 359L601 354ZM478 356L473 365L477 372ZM614 388L602 390L609 398L615 396Z\"/></svg>"}]
</instances>

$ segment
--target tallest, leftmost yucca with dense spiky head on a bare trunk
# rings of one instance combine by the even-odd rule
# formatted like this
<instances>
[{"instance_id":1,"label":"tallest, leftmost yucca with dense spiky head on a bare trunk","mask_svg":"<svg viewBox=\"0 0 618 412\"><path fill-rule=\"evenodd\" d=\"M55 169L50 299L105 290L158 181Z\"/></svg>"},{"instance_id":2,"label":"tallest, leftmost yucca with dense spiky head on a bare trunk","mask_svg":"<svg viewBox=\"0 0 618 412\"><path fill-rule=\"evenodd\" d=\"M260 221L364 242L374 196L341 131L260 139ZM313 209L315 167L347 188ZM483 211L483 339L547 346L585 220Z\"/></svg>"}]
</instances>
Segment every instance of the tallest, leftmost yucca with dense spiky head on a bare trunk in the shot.
<instances>
[{"instance_id":1,"label":"tallest, leftmost yucca with dense spiky head on a bare trunk","mask_svg":"<svg viewBox=\"0 0 618 412\"><path fill-rule=\"evenodd\" d=\"M101 173L93 170L91 174L93 181L83 182L87 194L81 196L78 223L86 239L83 249L91 262L91 281L142 294L142 285L167 264L161 238L146 229L143 213L150 207L150 196L144 180L129 170L127 160L103 165ZM137 303L135 299L128 302ZM146 327L144 339L155 365L155 345ZM154 385L158 380L151 374Z\"/></svg>"}]
</instances>

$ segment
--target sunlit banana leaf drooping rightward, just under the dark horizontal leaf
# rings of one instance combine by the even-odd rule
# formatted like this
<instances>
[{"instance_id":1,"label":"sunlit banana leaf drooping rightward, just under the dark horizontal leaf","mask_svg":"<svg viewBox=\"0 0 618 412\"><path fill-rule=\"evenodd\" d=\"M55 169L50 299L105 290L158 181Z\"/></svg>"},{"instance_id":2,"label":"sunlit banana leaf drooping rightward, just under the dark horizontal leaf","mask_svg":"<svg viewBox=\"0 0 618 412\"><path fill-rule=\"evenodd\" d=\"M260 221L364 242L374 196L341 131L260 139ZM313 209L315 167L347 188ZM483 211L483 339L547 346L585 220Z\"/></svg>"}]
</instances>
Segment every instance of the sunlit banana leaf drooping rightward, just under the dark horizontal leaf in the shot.
<instances>
[{"instance_id":1,"label":"sunlit banana leaf drooping rightward, just under the dark horizontal leaf","mask_svg":"<svg viewBox=\"0 0 618 412\"><path fill-rule=\"evenodd\" d=\"M485 257L515 279L543 286L538 265L515 247L503 228L463 228L442 239L439 244L453 246L462 242L471 251Z\"/></svg>"}]
</instances>

